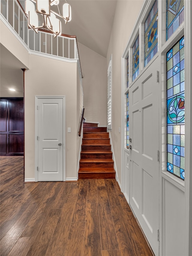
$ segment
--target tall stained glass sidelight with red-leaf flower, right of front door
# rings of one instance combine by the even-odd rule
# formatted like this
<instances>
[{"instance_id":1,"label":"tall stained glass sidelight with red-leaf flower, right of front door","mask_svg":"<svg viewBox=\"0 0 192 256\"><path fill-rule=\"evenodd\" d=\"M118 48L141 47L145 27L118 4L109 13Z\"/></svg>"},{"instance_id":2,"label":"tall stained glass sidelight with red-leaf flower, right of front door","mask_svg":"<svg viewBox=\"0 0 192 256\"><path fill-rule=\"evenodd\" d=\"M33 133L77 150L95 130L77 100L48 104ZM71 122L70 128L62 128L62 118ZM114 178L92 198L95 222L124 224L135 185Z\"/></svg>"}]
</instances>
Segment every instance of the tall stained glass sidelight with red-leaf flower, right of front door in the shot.
<instances>
[{"instance_id":1,"label":"tall stained glass sidelight with red-leaf flower, right of front door","mask_svg":"<svg viewBox=\"0 0 192 256\"><path fill-rule=\"evenodd\" d=\"M167 171L184 180L184 37L167 52Z\"/></svg>"}]
</instances>

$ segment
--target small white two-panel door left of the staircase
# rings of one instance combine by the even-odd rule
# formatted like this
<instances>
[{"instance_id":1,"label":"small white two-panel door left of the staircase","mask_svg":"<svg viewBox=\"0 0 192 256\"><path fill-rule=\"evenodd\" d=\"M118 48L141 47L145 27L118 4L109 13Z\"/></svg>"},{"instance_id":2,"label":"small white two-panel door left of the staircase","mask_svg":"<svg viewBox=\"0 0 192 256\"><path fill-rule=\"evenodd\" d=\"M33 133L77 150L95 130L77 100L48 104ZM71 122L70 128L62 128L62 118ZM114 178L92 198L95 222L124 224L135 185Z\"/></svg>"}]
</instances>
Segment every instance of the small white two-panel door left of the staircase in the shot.
<instances>
[{"instance_id":1,"label":"small white two-panel door left of the staircase","mask_svg":"<svg viewBox=\"0 0 192 256\"><path fill-rule=\"evenodd\" d=\"M63 101L37 100L38 181L63 181Z\"/></svg>"}]
</instances>

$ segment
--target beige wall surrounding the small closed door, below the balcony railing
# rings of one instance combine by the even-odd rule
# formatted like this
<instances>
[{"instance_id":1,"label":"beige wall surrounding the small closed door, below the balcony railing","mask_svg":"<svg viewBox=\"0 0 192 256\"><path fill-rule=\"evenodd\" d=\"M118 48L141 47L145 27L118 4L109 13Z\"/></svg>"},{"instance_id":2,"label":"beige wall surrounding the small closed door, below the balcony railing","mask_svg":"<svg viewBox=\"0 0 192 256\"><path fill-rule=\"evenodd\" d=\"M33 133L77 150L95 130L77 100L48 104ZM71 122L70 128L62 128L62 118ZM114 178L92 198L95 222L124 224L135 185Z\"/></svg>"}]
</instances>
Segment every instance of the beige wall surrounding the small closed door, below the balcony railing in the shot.
<instances>
[{"instance_id":1,"label":"beige wall surrounding the small closed door, below the balcony railing","mask_svg":"<svg viewBox=\"0 0 192 256\"><path fill-rule=\"evenodd\" d=\"M25 179L35 178L35 95L65 96L66 179L76 178L76 69L76 63L30 55L30 69L25 71Z\"/></svg>"}]
</instances>

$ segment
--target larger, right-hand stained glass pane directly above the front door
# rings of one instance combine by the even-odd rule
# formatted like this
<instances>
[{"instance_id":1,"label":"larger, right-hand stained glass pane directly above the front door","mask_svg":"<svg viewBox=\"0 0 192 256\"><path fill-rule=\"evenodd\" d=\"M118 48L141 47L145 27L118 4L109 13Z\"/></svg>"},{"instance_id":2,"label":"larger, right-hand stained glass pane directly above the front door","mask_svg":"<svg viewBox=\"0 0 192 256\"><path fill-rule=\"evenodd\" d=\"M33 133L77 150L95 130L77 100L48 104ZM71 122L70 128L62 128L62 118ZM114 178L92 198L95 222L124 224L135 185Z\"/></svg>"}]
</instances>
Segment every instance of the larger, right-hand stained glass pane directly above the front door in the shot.
<instances>
[{"instance_id":1,"label":"larger, right-hand stained glass pane directly above the front door","mask_svg":"<svg viewBox=\"0 0 192 256\"><path fill-rule=\"evenodd\" d=\"M145 66L158 52L158 1L156 0L145 21Z\"/></svg>"}]
</instances>

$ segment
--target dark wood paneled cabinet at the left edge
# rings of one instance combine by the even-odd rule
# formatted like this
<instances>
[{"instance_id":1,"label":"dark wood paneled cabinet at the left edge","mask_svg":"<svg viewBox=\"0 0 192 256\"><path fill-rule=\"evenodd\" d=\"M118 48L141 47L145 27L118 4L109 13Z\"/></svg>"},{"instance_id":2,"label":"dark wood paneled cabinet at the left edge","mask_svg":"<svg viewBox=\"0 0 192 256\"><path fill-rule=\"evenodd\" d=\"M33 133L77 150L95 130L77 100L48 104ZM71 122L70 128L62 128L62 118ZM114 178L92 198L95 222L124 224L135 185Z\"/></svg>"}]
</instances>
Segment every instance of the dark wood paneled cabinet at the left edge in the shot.
<instances>
[{"instance_id":1,"label":"dark wood paneled cabinet at the left edge","mask_svg":"<svg viewBox=\"0 0 192 256\"><path fill-rule=\"evenodd\" d=\"M23 144L23 98L0 98L0 155L22 156Z\"/></svg>"}]
</instances>

